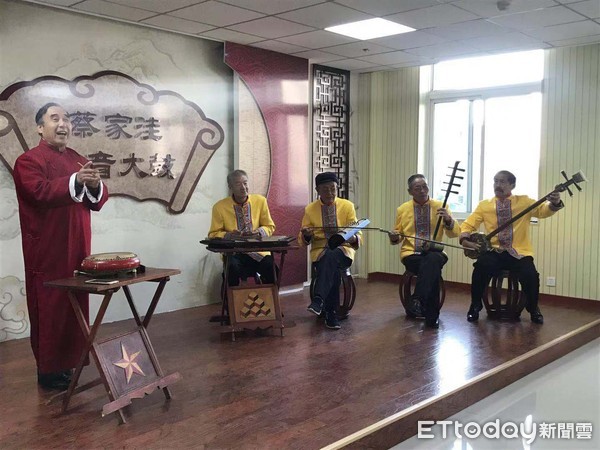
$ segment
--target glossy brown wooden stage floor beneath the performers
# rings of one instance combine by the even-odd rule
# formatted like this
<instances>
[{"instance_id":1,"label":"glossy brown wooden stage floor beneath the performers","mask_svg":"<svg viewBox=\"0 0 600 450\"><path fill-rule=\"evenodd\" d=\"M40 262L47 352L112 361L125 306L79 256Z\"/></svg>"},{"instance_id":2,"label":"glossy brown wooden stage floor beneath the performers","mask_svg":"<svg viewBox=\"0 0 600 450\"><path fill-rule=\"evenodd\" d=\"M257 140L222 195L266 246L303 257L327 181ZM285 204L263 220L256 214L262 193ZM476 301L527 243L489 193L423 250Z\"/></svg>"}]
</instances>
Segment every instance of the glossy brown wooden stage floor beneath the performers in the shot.
<instances>
[{"instance_id":1,"label":"glossy brown wooden stage floor beneath the performers","mask_svg":"<svg viewBox=\"0 0 600 450\"><path fill-rule=\"evenodd\" d=\"M307 289L282 297L283 338L231 342L208 322L217 305L156 315L149 334L161 366L183 379L170 402L160 392L134 400L125 425L101 418L102 386L75 396L65 415L46 405L29 340L1 343L0 447L316 449L363 430L351 447L387 448L415 434L417 417L445 418L600 336L600 302L542 302L542 326L485 314L471 324L468 295L449 288L440 329L431 330L405 318L396 284L357 285L339 331L306 312ZM163 302L168 296L167 287ZM88 367L82 379L96 374Z\"/></svg>"}]
</instances>

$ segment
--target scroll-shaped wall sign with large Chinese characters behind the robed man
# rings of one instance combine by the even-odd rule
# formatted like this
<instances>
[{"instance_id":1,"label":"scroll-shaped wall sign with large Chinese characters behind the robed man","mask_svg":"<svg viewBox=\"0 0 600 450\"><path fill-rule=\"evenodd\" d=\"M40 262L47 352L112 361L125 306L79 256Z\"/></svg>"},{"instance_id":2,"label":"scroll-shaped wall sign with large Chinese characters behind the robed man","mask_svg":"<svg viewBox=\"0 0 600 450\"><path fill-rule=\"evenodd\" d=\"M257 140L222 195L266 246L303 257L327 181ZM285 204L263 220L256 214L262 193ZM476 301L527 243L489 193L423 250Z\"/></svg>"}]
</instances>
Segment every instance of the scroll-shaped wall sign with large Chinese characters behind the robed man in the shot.
<instances>
[{"instance_id":1,"label":"scroll-shaped wall sign with large Chinese characters behind the robed man","mask_svg":"<svg viewBox=\"0 0 600 450\"><path fill-rule=\"evenodd\" d=\"M111 196L159 201L174 214L185 210L225 138L196 104L128 75L46 76L0 93L0 158L11 173L17 157L39 142L34 117L47 102L67 110L69 147L94 162Z\"/></svg>"}]
</instances>

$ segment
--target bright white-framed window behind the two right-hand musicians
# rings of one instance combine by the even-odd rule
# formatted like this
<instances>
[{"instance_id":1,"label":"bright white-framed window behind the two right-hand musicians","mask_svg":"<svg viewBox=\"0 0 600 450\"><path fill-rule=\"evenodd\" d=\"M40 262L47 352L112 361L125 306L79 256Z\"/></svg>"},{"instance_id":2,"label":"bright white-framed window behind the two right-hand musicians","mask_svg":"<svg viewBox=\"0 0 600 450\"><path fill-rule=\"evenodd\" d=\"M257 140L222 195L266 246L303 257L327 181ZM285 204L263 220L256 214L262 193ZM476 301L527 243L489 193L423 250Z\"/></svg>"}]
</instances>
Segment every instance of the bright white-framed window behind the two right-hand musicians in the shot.
<instances>
[{"instance_id":1,"label":"bright white-framed window behind the two right-hand musicians","mask_svg":"<svg viewBox=\"0 0 600 450\"><path fill-rule=\"evenodd\" d=\"M499 170L515 174L516 193L537 198L543 65L536 50L433 66L427 168L432 197L443 200L450 168L461 161L464 179L448 199L457 217L494 196Z\"/></svg>"}]
</instances>

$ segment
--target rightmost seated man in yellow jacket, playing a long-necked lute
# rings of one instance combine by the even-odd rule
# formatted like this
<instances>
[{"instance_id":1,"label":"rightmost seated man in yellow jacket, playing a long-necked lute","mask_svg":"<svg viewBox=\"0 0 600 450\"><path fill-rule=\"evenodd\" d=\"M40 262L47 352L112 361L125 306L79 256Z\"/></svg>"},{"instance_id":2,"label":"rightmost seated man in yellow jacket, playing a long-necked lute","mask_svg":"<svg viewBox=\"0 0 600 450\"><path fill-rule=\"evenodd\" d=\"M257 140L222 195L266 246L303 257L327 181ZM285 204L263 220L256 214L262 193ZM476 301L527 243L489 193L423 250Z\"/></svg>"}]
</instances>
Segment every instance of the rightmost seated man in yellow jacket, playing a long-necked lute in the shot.
<instances>
[{"instance_id":1,"label":"rightmost seated man in yellow jacket, playing a long-necked lute","mask_svg":"<svg viewBox=\"0 0 600 450\"><path fill-rule=\"evenodd\" d=\"M501 170L494 175L496 195L490 200L480 202L475 211L463 222L460 227L461 245L479 249L479 245L470 242L468 237L478 230L482 222L486 233L491 233L535 203L535 200L526 195L512 195L516 183L517 178L507 170ZM469 322L479 319L483 293L493 274L499 270L514 270L519 275L519 283L527 297L526 308L531 315L531 321L544 323L544 316L538 307L540 274L533 263L529 226L532 217L540 219L550 217L564 206L558 192L550 194L547 200L494 236L491 240L493 251L483 253L473 264L471 306L467 313Z\"/></svg>"}]
</instances>

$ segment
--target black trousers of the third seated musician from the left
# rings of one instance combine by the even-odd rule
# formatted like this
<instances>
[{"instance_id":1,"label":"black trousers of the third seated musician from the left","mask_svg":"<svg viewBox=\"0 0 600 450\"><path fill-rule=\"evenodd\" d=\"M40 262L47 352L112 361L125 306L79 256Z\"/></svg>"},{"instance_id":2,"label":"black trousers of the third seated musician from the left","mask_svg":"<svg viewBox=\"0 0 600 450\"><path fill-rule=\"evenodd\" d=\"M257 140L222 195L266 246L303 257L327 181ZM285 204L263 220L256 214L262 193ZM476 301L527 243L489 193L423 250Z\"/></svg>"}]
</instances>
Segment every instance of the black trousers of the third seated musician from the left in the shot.
<instances>
[{"instance_id":1,"label":"black trousers of the third seated musician from the left","mask_svg":"<svg viewBox=\"0 0 600 450\"><path fill-rule=\"evenodd\" d=\"M426 319L437 319L440 315L440 277L447 262L448 257L442 252L425 252L402 260L408 270L418 275L413 295L423 302Z\"/></svg>"}]
</instances>

